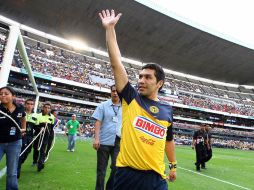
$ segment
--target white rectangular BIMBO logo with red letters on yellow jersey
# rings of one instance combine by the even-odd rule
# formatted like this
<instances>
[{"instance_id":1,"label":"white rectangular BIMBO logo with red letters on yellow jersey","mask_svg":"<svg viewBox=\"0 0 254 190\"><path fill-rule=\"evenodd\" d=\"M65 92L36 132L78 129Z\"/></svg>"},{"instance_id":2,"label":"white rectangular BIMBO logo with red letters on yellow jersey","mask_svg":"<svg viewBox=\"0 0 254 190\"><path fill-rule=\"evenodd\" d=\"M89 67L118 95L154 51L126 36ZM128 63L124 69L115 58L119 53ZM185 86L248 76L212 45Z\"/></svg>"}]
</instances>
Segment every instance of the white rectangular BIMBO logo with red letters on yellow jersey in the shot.
<instances>
[{"instance_id":1,"label":"white rectangular BIMBO logo with red letters on yellow jersey","mask_svg":"<svg viewBox=\"0 0 254 190\"><path fill-rule=\"evenodd\" d=\"M135 118L133 125L135 129L138 129L158 139L163 139L167 131L165 127L141 116Z\"/></svg>"}]
</instances>

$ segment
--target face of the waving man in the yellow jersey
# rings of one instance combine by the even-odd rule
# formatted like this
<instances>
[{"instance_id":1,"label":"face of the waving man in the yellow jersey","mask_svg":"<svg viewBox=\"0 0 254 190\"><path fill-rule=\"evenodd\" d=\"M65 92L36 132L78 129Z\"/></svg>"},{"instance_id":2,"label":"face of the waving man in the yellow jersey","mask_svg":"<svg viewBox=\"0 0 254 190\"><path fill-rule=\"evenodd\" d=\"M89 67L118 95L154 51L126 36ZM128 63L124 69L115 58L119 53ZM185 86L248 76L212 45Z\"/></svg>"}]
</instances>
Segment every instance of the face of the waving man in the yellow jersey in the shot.
<instances>
[{"instance_id":1,"label":"face of the waving man in the yellow jersey","mask_svg":"<svg viewBox=\"0 0 254 190\"><path fill-rule=\"evenodd\" d=\"M157 94L161 85L162 81L157 82L156 80L155 70L143 69L139 73L138 92L142 96L150 97Z\"/></svg>"}]
</instances>

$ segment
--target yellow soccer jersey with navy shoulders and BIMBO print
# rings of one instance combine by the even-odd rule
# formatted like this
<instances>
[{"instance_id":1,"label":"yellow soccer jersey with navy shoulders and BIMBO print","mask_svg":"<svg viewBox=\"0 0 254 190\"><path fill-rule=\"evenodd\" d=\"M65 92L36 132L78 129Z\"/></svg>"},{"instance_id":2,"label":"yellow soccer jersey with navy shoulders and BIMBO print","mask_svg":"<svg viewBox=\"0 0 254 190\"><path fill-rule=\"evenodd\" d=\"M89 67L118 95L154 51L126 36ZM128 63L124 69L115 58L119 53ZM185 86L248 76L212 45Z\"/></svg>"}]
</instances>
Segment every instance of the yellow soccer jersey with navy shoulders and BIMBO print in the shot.
<instances>
[{"instance_id":1,"label":"yellow soccer jersey with navy shoulders and BIMBO print","mask_svg":"<svg viewBox=\"0 0 254 190\"><path fill-rule=\"evenodd\" d=\"M122 137L118 167L154 170L163 178L166 140L173 140L172 107L141 96L128 83L122 99Z\"/></svg>"}]
</instances>

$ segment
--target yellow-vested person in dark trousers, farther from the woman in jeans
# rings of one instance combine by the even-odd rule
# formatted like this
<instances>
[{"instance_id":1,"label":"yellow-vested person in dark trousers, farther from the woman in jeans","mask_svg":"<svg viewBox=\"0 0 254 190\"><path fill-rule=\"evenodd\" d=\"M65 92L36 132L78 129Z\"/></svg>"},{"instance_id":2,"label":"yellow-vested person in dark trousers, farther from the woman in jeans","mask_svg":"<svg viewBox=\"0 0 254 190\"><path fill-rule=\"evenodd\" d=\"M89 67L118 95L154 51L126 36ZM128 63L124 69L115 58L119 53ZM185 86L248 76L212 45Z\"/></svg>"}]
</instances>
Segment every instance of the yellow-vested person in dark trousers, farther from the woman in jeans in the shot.
<instances>
[{"instance_id":1,"label":"yellow-vested person in dark trousers, farther from the woman in jeans","mask_svg":"<svg viewBox=\"0 0 254 190\"><path fill-rule=\"evenodd\" d=\"M37 171L40 172L44 168L46 148L48 145L48 139L51 131L54 127L54 116L50 113L51 105L50 103L45 103L42 108L42 113L38 114L38 127L44 128L44 132L41 134L40 141L38 143L39 147L39 160L37 164Z\"/></svg>"}]
</instances>

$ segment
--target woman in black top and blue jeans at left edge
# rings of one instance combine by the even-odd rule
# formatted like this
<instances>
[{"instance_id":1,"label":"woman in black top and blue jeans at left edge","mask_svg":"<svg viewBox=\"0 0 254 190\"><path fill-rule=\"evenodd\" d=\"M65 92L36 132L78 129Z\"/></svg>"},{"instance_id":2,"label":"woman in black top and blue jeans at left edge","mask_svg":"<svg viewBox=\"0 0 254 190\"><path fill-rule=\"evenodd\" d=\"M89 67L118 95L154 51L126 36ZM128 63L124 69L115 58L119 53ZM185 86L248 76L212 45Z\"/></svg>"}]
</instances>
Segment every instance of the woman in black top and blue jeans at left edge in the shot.
<instances>
[{"instance_id":1,"label":"woman in black top and blue jeans at left edge","mask_svg":"<svg viewBox=\"0 0 254 190\"><path fill-rule=\"evenodd\" d=\"M0 160L6 154L6 189L18 189L17 166L22 145L22 133L26 131L25 111L14 102L15 91L0 88Z\"/></svg>"}]
</instances>

